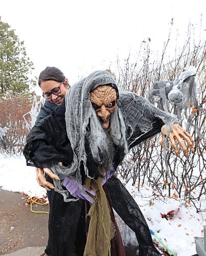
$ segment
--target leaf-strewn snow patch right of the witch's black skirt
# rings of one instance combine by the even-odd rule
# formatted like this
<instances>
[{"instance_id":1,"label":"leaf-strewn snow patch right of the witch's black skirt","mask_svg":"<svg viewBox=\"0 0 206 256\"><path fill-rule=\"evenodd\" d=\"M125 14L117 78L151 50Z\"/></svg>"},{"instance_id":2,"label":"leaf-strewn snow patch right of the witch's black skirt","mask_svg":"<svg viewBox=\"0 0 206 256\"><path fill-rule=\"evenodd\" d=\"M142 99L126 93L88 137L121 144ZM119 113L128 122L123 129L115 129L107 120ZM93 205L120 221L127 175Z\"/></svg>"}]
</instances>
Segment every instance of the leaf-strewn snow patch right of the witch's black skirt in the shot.
<instances>
[{"instance_id":1,"label":"leaf-strewn snow patch right of the witch's black skirt","mask_svg":"<svg viewBox=\"0 0 206 256\"><path fill-rule=\"evenodd\" d=\"M123 180L121 180L123 183ZM149 228L178 256L196 254L195 237L203 237L205 220L197 214L192 205L185 205L181 199L151 200L152 189L145 185L140 191L132 186L132 181L126 184L127 190L138 203ZM173 219L166 220L161 214L171 210L175 212ZM155 237L152 236L152 239ZM157 239L156 239L157 240Z\"/></svg>"}]
</instances>

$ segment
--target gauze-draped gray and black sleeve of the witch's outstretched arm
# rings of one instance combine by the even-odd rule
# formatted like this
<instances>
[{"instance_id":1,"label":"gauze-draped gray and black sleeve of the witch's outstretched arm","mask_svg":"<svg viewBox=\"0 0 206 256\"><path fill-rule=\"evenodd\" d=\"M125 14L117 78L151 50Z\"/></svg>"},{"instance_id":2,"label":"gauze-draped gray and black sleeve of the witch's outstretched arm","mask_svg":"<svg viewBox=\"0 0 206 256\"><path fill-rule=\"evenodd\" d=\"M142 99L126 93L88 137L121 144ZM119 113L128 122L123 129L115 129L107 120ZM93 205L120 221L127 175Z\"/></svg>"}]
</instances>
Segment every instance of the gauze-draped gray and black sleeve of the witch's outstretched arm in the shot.
<instances>
[{"instance_id":1,"label":"gauze-draped gray and black sleeve of the witch's outstretched arm","mask_svg":"<svg viewBox=\"0 0 206 256\"><path fill-rule=\"evenodd\" d=\"M120 110L126 125L129 149L161 132L164 124L178 122L176 116L161 111L147 99L134 93L120 94Z\"/></svg>"}]
</instances>

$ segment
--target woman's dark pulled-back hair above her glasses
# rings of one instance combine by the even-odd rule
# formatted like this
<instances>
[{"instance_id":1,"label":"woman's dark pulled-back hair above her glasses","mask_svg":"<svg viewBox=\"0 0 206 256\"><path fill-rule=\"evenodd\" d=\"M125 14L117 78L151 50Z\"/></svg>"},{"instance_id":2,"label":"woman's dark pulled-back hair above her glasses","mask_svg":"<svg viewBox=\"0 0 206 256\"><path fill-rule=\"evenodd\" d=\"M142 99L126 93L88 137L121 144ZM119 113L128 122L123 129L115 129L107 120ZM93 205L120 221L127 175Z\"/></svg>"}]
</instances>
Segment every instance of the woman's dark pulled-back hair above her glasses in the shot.
<instances>
[{"instance_id":1,"label":"woman's dark pulled-back hair above her glasses","mask_svg":"<svg viewBox=\"0 0 206 256\"><path fill-rule=\"evenodd\" d=\"M65 76L63 72L55 67L47 67L43 71L41 71L39 75L39 86L42 81L47 81L47 80L54 80L57 82L64 82Z\"/></svg>"}]
</instances>

